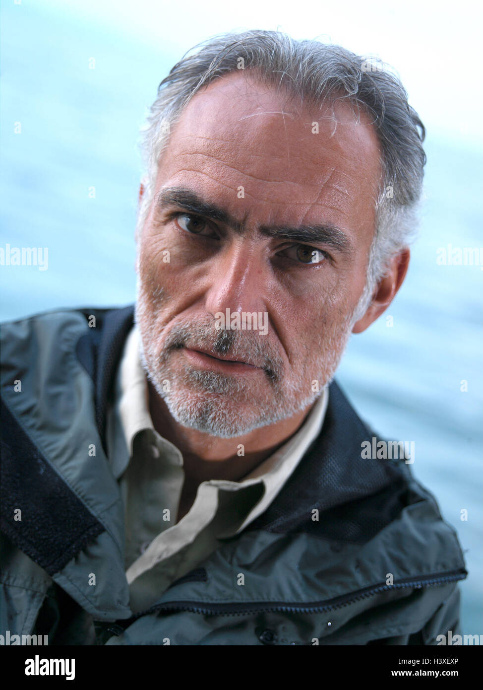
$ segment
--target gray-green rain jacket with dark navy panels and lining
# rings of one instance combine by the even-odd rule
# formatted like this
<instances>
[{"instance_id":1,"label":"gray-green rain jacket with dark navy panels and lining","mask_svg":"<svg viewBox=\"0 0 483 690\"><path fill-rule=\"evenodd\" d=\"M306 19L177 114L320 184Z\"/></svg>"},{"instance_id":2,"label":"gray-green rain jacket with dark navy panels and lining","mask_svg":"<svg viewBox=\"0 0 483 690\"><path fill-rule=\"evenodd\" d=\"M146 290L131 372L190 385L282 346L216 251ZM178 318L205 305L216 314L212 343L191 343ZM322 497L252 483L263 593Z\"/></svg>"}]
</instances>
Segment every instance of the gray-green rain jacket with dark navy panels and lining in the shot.
<instances>
[{"instance_id":1,"label":"gray-green rain jacket with dark navy panels and lining","mask_svg":"<svg viewBox=\"0 0 483 690\"><path fill-rule=\"evenodd\" d=\"M375 434L336 382L320 434L265 513L134 615L105 450L133 311L1 326L1 634L107 645L438 644L461 634L467 573L455 530L404 458L361 457Z\"/></svg>"}]
</instances>

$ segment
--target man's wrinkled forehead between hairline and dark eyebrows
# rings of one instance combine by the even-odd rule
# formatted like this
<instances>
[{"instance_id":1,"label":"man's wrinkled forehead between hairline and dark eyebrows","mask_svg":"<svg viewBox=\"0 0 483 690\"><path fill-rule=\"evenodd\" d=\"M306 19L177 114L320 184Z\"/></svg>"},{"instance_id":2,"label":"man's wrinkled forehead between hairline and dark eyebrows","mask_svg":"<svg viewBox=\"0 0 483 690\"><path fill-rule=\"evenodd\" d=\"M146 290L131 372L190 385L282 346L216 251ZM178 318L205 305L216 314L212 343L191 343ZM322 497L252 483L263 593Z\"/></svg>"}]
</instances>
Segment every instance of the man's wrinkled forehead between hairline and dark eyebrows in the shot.
<instances>
[{"instance_id":1,"label":"man's wrinkled forehead between hairline and dark eyebrows","mask_svg":"<svg viewBox=\"0 0 483 690\"><path fill-rule=\"evenodd\" d=\"M252 206L276 206L279 219L299 206L305 221L323 209L334 224L356 216L371 227L382 172L364 112L358 122L342 101L302 105L250 70L216 79L189 101L159 170L161 186L191 181L236 199L243 186Z\"/></svg>"}]
</instances>

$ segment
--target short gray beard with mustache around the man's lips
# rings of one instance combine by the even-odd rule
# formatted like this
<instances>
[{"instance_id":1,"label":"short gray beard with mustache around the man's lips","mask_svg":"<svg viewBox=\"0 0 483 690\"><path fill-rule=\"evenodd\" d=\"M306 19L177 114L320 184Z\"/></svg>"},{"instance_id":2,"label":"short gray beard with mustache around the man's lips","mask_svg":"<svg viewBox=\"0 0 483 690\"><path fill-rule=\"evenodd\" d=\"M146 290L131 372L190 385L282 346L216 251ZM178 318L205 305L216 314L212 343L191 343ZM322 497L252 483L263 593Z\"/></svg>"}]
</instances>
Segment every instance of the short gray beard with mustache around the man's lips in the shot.
<instances>
[{"instance_id":1,"label":"short gray beard with mustache around the man's lips","mask_svg":"<svg viewBox=\"0 0 483 690\"><path fill-rule=\"evenodd\" d=\"M156 297L162 299L162 293ZM234 331L218 331L214 336L213 326L206 319L191 322L189 326L175 324L169 330L159 355L156 344L161 334L156 333L151 325L152 313L156 311L151 312L145 304L150 302L138 289L135 321L140 334L141 364L148 380L178 424L220 438L239 437L257 428L271 426L314 404L324 386L333 379L351 330L351 327L348 328L350 319L347 319L338 336L331 339L333 342L324 343L325 352L330 353L328 356L326 354L324 361L307 362L305 370L297 377L297 383L292 383L287 382L285 377L283 360L267 356L265 349L260 348L259 341L251 339L253 336L247 335L250 338L247 341ZM246 384L240 377L204 371L188 364L181 368L181 372L178 370L174 373L169 366L169 357L189 338L195 338L199 346L203 344L214 352L224 354L237 342L237 351L243 352L245 362L263 362L271 393L265 393L263 400L255 404L249 383ZM248 351L244 343L245 346L249 345ZM321 351L324 350L318 349L318 352ZM325 380L320 376L322 368ZM319 377L309 377L309 373L314 372L318 372ZM312 379L318 380L316 391L307 386L307 381Z\"/></svg>"}]
</instances>

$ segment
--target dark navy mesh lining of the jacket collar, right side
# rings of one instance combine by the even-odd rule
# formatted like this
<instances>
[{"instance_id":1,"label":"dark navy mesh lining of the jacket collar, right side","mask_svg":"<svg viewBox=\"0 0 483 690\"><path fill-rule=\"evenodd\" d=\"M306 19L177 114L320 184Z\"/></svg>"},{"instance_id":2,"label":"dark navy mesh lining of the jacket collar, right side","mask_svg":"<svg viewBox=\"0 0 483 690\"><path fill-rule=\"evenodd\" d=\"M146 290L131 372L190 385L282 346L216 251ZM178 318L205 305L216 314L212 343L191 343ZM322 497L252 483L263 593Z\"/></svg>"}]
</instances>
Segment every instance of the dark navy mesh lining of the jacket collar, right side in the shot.
<instances>
[{"instance_id":1,"label":"dark navy mesh lining of the jacket collar, right side","mask_svg":"<svg viewBox=\"0 0 483 690\"><path fill-rule=\"evenodd\" d=\"M318 438L268 507L247 530L305 532L364 544L409 503L404 460L363 460L361 444L376 436L336 382ZM319 520L313 521L312 510Z\"/></svg>"}]
</instances>

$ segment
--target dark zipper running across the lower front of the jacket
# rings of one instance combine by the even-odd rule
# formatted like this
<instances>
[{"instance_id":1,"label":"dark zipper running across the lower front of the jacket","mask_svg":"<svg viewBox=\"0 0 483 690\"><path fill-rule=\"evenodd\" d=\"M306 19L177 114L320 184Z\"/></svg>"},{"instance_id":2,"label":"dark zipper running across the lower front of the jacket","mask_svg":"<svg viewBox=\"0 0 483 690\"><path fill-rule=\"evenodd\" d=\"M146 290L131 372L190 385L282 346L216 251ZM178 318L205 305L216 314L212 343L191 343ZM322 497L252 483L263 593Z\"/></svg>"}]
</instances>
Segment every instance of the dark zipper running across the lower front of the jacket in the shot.
<instances>
[{"instance_id":1,"label":"dark zipper running across the lower front of the jacket","mask_svg":"<svg viewBox=\"0 0 483 690\"><path fill-rule=\"evenodd\" d=\"M245 613L261 613L264 611L283 611L287 613L325 613L325 611L335 611L336 609L341 609L342 607L353 604L353 602L360 601L374 594L387 591L388 589L402 589L404 587L414 587L415 589L421 589L422 587L435 586L438 584L444 584L446 582L455 582L456 580L464 580L468 575L467 571L463 568L460 570L450 571L449 573L435 573L427 578L409 578L407 580L401 580L400 582L394 582L394 584L381 583L371 587L365 587L364 589L358 589L351 592L350 595L345 595L341 597L336 597L331 600L325 600L321 602L314 602L312 604L307 604L305 606L300 605L287 605L283 602L272 602L268 606L260 606L256 602L251 604L210 604L209 607L200 606L197 602L166 602L165 604L155 604L141 611L141 613L136 613L132 618L127 620L119 621L116 624L110 626L110 632L114 635L121 634L127 627L132 625L138 618L143 615L150 613L156 613L156 611L192 611L193 613L202 613L203 615L243 615Z\"/></svg>"}]
</instances>

